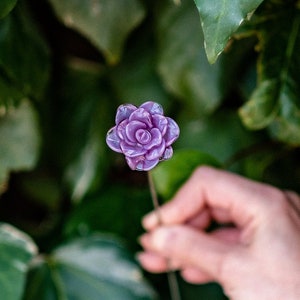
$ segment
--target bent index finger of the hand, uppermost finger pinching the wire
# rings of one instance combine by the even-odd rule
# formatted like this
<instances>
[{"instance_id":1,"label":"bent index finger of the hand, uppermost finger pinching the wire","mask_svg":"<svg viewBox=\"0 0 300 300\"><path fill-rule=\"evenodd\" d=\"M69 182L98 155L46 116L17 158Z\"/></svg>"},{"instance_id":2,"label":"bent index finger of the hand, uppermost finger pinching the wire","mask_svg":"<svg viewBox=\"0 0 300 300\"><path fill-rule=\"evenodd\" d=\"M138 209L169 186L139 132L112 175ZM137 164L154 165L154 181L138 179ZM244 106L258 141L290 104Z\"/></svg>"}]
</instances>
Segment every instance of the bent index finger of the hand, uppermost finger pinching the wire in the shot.
<instances>
[{"instance_id":1,"label":"bent index finger of the hand, uppermost finger pinching the wire","mask_svg":"<svg viewBox=\"0 0 300 300\"><path fill-rule=\"evenodd\" d=\"M180 224L208 207L223 210L232 222L243 227L261 215L263 206L274 197L282 197L282 193L272 186L203 166L196 169L174 198L160 208L160 217L164 225ZM143 219L147 230L158 225L159 220L153 212Z\"/></svg>"}]
</instances>

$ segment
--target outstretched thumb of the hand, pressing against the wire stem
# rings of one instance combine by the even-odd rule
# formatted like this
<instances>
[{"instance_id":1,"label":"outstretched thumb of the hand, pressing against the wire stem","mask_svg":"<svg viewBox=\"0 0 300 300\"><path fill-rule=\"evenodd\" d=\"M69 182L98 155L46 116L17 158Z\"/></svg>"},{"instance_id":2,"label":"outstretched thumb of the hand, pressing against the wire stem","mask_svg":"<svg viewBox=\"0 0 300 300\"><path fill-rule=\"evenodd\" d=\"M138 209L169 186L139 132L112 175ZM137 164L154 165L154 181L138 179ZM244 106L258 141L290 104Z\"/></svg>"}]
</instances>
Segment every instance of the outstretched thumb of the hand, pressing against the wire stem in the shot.
<instances>
[{"instance_id":1,"label":"outstretched thumb of the hand, pressing against the wire stem","mask_svg":"<svg viewBox=\"0 0 300 300\"><path fill-rule=\"evenodd\" d=\"M146 234L142 245L171 261L180 261L182 268L192 267L222 282L226 277L225 260L233 254L234 245L191 227L160 227ZM224 276L224 277L223 277Z\"/></svg>"}]
</instances>

